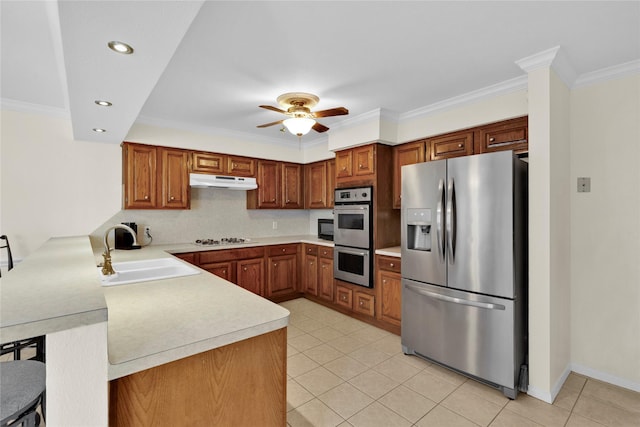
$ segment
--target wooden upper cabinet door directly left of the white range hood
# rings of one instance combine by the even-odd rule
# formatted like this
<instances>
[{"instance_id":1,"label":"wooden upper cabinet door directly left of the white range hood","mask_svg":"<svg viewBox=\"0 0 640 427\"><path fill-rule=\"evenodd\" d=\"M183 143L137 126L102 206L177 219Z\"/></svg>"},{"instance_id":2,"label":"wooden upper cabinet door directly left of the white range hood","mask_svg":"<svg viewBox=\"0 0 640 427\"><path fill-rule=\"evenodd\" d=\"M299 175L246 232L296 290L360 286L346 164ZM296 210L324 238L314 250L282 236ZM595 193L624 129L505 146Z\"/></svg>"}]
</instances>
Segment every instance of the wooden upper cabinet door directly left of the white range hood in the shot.
<instances>
[{"instance_id":1,"label":"wooden upper cabinet door directly left of the white range hood","mask_svg":"<svg viewBox=\"0 0 640 427\"><path fill-rule=\"evenodd\" d=\"M189 153L183 150L159 148L162 164L160 208L189 207Z\"/></svg>"}]
</instances>

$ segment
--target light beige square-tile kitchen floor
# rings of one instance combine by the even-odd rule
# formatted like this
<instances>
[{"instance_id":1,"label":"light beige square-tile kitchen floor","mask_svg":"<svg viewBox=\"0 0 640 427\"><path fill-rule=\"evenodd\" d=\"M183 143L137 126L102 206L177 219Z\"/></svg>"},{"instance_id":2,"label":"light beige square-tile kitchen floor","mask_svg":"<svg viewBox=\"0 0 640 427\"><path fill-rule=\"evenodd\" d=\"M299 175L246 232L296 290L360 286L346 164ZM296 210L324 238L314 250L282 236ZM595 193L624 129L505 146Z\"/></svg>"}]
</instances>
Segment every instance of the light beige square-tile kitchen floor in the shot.
<instances>
[{"instance_id":1,"label":"light beige square-tile kitchen floor","mask_svg":"<svg viewBox=\"0 0 640 427\"><path fill-rule=\"evenodd\" d=\"M571 373L553 405L516 400L402 353L400 337L304 298L288 328L287 423L299 426L640 426L640 393Z\"/></svg>"}]
</instances>

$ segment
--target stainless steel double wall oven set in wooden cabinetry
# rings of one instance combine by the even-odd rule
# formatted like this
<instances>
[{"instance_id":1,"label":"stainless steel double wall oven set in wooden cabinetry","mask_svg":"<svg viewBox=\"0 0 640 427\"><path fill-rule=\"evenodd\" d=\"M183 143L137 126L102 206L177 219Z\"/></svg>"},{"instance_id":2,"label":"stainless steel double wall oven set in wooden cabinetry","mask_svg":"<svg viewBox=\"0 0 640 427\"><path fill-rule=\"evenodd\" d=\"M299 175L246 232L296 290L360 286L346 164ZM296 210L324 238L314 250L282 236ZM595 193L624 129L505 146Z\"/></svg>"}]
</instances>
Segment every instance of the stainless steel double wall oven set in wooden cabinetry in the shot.
<instances>
[{"instance_id":1,"label":"stainless steel double wall oven set in wooden cabinetry","mask_svg":"<svg viewBox=\"0 0 640 427\"><path fill-rule=\"evenodd\" d=\"M373 187L335 190L333 276L373 287Z\"/></svg>"}]
</instances>

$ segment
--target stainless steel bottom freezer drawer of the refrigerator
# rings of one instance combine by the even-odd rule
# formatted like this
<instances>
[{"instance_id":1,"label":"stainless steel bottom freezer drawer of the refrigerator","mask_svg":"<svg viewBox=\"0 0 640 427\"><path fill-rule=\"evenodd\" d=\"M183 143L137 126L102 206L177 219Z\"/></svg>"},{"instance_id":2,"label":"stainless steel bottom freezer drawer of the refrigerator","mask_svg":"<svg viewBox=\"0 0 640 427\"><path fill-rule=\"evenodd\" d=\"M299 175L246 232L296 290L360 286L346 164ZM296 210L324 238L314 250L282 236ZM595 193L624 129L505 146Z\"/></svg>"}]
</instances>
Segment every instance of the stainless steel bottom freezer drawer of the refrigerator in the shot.
<instances>
[{"instance_id":1,"label":"stainless steel bottom freezer drawer of the refrigerator","mask_svg":"<svg viewBox=\"0 0 640 427\"><path fill-rule=\"evenodd\" d=\"M405 353L516 389L521 364L516 323L513 300L402 279Z\"/></svg>"}]
</instances>

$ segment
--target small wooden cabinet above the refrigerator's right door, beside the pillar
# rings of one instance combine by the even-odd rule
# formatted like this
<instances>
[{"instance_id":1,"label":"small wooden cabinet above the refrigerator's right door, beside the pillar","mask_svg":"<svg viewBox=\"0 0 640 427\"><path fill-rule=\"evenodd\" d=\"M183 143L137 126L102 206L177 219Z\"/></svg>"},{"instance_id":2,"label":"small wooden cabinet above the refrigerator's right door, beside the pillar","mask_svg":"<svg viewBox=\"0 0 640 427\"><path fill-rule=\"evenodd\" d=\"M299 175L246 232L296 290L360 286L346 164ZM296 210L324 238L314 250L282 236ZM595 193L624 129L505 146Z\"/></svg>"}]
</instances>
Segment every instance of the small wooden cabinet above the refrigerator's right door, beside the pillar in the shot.
<instances>
[{"instance_id":1,"label":"small wooden cabinet above the refrigerator's right door, beside the pillar","mask_svg":"<svg viewBox=\"0 0 640 427\"><path fill-rule=\"evenodd\" d=\"M519 117L482 126L476 130L474 143L476 154L504 150L513 150L516 153L528 151L528 118Z\"/></svg>"}]
</instances>

